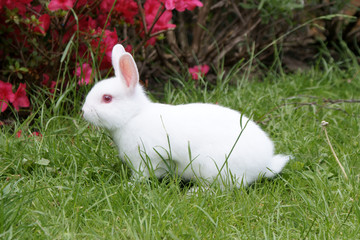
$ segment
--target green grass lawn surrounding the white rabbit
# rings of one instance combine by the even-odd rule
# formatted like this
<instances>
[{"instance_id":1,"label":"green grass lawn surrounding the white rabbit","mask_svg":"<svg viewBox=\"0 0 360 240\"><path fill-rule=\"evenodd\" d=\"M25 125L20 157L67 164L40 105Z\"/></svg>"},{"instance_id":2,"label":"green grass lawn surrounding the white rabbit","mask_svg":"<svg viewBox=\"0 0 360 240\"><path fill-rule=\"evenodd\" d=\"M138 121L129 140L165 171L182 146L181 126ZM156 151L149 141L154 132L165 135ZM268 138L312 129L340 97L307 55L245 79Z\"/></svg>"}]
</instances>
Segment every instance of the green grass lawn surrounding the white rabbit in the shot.
<instances>
[{"instance_id":1,"label":"green grass lawn surrounding the white rabbit","mask_svg":"<svg viewBox=\"0 0 360 240\"><path fill-rule=\"evenodd\" d=\"M78 91L55 99L56 109L38 100L34 115L16 124L21 138L1 128L0 238L359 239L360 103L324 101L359 99L358 71L334 65L269 73L262 81L231 76L231 84L219 77L216 86L169 84L153 93L172 104L218 102L240 110L261 122L277 152L294 156L273 180L247 189L215 186L213 193L188 194L176 179L129 184L108 135L79 117ZM28 136L35 130L42 137Z\"/></svg>"}]
</instances>

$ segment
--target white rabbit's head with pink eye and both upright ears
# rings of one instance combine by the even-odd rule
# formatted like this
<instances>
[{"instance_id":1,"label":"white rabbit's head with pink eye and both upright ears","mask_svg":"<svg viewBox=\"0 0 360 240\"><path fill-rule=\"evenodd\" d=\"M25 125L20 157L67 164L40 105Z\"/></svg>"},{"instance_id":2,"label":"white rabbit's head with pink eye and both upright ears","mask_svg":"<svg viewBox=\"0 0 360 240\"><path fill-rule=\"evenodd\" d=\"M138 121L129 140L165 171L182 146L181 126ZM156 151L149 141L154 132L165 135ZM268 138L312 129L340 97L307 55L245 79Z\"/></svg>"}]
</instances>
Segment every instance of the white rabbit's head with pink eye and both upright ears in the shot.
<instances>
[{"instance_id":1,"label":"white rabbit's head with pink eye and both upright ears","mask_svg":"<svg viewBox=\"0 0 360 240\"><path fill-rule=\"evenodd\" d=\"M88 122L110 131L121 128L149 102L133 57L117 44L111 58L115 77L95 84L82 108Z\"/></svg>"}]
</instances>

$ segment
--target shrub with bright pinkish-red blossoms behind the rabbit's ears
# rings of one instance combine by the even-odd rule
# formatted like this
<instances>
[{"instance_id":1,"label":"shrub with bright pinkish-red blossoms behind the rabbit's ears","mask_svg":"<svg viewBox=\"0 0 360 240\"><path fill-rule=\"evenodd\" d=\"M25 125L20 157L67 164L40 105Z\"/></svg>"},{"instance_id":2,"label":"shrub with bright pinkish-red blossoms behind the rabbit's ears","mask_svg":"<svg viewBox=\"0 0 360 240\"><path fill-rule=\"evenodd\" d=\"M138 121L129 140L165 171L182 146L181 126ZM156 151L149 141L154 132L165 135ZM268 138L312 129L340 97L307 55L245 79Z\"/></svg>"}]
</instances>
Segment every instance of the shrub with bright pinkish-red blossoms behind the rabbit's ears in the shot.
<instances>
[{"instance_id":1,"label":"shrub with bright pinkish-red blossoms behind the rabbit's ears","mask_svg":"<svg viewBox=\"0 0 360 240\"><path fill-rule=\"evenodd\" d=\"M199 0L0 0L0 110L28 108L26 86L55 93L57 81L75 75L90 84L111 69L111 50L156 44L176 27L173 11L194 10ZM125 31L125 30L126 31ZM123 30L123 31L120 31ZM62 63L66 63L66 66ZM94 71L96 70L96 71ZM67 74L59 74L67 71ZM14 88L17 91L14 93Z\"/></svg>"}]
</instances>

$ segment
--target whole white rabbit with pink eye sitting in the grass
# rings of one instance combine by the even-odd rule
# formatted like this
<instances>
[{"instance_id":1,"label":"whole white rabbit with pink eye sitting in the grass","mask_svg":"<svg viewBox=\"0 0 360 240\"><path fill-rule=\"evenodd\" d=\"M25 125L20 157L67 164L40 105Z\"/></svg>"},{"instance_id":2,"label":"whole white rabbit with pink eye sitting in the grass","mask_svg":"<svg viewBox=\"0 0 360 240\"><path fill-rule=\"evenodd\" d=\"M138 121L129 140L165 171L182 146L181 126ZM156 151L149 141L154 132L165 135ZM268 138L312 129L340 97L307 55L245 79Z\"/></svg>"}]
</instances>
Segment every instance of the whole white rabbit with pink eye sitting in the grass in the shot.
<instances>
[{"instance_id":1,"label":"whole white rabbit with pink eye sitting in the grass","mask_svg":"<svg viewBox=\"0 0 360 240\"><path fill-rule=\"evenodd\" d=\"M92 88L83 116L110 132L120 158L137 176L152 172L160 178L175 171L187 180L240 187L261 175L275 176L289 161L289 156L274 155L267 134L237 111L151 102L139 84L134 59L120 44L112 50L112 64L115 77Z\"/></svg>"}]
</instances>

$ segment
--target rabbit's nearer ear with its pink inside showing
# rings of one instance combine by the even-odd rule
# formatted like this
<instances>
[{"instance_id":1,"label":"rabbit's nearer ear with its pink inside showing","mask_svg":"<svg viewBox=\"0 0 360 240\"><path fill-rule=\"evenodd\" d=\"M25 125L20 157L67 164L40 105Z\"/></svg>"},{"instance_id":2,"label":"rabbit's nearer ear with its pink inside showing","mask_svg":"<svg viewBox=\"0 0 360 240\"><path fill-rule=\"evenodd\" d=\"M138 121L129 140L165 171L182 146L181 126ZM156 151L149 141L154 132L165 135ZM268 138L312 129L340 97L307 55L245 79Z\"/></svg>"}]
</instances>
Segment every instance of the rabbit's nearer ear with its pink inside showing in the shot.
<instances>
[{"instance_id":1,"label":"rabbit's nearer ear with its pink inside showing","mask_svg":"<svg viewBox=\"0 0 360 240\"><path fill-rule=\"evenodd\" d=\"M126 86L134 88L139 82L139 72L133 57L129 53L121 55L119 60L120 73L125 80Z\"/></svg>"}]
</instances>

